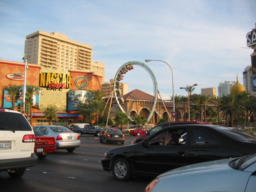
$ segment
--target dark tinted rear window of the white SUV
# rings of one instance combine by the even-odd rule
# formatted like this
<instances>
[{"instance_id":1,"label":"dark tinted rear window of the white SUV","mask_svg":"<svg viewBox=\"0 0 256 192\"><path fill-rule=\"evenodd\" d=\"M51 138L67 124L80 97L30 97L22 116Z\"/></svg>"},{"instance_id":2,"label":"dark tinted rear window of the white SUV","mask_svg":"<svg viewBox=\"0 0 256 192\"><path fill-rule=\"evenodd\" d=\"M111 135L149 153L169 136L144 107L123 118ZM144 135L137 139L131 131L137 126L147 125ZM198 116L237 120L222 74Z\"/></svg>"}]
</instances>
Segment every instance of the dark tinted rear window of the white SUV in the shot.
<instances>
[{"instance_id":1,"label":"dark tinted rear window of the white SUV","mask_svg":"<svg viewBox=\"0 0 256 192\"><path fill-rule=\"evenodd\" d=\"M0 112L0 130L31 131L32 129L22 114Z\"/></svg>"}]
</instances>

